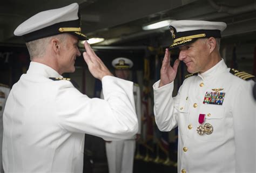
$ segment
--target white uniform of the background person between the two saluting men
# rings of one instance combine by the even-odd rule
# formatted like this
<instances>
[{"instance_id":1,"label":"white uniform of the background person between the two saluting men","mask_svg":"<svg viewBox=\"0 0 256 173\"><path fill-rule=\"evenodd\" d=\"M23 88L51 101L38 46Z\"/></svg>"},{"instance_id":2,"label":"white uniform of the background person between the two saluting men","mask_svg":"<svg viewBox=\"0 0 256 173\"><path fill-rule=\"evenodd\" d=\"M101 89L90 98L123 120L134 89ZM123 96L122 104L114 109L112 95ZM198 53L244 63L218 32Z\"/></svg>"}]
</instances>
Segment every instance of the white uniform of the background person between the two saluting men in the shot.
<instances>
[{"instance_id":1,"label":"white uniform of the background person between the two saluting men","mask_svg":"<svg viewBox=\"0 0 256 173\"><path fill-rule=\"evenodd\" d=\"M141 134L142 101L140 100L140 88L137 84L133 85L133 95L139 124L137 134ZM100 97L104 98L102 94ZM135 139L136 135L126 140L106 142L109 173L132 173L136 149Z\"/></svg>"}]
</instances>

